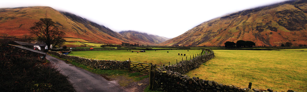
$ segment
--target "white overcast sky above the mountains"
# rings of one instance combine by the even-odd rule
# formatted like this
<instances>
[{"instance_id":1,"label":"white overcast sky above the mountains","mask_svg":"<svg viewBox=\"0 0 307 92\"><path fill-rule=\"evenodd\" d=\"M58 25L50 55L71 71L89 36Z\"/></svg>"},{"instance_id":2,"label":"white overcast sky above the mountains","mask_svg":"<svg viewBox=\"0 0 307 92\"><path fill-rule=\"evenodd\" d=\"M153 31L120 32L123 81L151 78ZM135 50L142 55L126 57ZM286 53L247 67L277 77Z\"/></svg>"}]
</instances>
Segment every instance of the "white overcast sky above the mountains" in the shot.
<instances>
[{"instance_id":1,"label":"white overcast sky above the mountains","mask_svg":"<svg viewBox=\"0 0 307 92\"><path fill-rule=\"evenodd\" d=\"M1 0L0 8L49 6L116 32L177 37L213 18L288 0Z\"/></svg>"}]
</instances>

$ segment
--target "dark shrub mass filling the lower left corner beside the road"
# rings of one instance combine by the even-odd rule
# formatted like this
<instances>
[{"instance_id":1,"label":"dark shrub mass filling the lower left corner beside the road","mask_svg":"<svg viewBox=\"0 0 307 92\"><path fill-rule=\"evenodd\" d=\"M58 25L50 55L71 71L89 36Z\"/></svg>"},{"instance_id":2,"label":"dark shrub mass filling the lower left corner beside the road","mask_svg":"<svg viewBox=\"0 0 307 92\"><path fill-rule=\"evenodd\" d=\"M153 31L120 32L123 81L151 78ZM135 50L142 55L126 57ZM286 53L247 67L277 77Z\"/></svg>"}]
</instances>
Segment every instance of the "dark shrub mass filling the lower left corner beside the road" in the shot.
<instances>
[{"instance_id":1,"label":"dark shrub mass filling the lower left corner beside the road","mask_svg":"<svg viewBox=\"0 0 307 92\"><path fill-rule=\"evenodd\" d=\"M41 60L25 57L2 58L0 90L11 91L76 91L68 76L55 66L43 65Z\"/></svg>"}]
</instances>

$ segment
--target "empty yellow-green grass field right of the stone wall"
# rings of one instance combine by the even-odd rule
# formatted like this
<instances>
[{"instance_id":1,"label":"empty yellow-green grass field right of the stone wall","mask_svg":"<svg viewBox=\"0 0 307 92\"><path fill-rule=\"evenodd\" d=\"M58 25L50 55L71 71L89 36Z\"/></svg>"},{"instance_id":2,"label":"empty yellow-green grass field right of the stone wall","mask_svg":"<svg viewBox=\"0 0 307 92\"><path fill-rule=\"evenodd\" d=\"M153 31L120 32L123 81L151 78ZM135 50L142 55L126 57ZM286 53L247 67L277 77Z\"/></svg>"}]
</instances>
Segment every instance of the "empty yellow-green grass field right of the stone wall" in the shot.
<instances>
[{"instance_id":1,"label":"empty yellow-green grass field right of the stone wall","mask_svg":"<svg viewBox=\"0 0 307 92\"><path fill-rule=\"evenodd\" d=\"M248 86L251 82L252 88L271 88L279 92L307 89L305 51L213 51L215 58L187 75L233 85Z\"/></svg>"}]
</instances>

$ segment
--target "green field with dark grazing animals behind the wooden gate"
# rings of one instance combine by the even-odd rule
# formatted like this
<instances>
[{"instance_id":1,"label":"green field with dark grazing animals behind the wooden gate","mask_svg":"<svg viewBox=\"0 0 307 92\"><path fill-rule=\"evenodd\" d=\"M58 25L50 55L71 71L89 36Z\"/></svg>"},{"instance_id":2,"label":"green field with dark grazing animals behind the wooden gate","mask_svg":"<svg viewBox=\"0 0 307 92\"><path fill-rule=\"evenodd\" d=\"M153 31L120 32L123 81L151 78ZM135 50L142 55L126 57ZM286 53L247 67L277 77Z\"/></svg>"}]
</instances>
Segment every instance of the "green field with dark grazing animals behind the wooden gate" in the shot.
<instances>
[{"instance_id":1,"label":"green field with dark grazing animals behind the wooden gate","mask_svg":"<svg viewBox=\"0 0 307 92\"><path fill-rule=\"evenodd\" d=\"M134 51L133 53L131 51ZM201 53L201 50L157 50L157 51L146 51L146 52L139 52L140 50L112 50L112 51L72 51L74 56L80 56L84 58L91 58L91 59L100 59L100 60L128 60L129 58L131 61L134 62L144 62L144 63L153 63L157 65L165 64L167 65L168 62L170 64L175 64L176 59L178 62L181 61L182 58L185 60L185 56L178 55L186 54L188 56L188 60L190 60L190 55L193 58L193 55ZM169 53L167 53L169 51Z\"/></svg>"}]
</instances>

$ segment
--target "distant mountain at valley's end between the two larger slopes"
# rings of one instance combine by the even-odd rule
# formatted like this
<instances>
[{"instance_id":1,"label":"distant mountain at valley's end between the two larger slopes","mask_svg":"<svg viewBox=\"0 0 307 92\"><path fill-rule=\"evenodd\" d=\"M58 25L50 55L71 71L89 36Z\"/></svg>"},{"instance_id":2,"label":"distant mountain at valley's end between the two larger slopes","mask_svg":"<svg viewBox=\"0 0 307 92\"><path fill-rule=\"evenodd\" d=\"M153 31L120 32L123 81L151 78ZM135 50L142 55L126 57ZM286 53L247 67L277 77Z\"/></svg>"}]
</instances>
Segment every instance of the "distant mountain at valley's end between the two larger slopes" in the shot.
<instances>
[{"instance_id":1,"label":"distant mountain at valley's end between the two larger slopes","mask_svg":"<svg viewBox=\"0 0 307 92\"><path fill-rule=\"evenodd\" d=\"M146 33L141 33L141 32L131 31L131 30L121 31L119 32L119 34L121 34L122 36L124 36L130 41L133 41L138 44L144 44L144 45L156 45L166 40L169 40L169 38L166 38L166 37L161 37L157 35L146 34Z\"/></svg>"}]
</instances>

